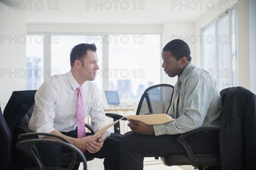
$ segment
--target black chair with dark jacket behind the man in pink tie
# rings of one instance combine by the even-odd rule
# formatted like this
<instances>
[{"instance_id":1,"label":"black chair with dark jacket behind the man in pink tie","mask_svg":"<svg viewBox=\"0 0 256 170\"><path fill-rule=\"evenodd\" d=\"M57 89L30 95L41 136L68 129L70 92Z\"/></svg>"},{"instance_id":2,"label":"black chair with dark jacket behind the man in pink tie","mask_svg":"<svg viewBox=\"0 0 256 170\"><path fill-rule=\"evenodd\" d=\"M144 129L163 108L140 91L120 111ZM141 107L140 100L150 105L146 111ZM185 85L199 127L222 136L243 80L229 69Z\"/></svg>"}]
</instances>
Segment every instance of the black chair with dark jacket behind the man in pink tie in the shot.
<instances>
[{"instance_id":1,"label":"black chair with dark jacket behind the man in pink tie","mask_svg":"<svg viewBox=\"0 0 256 170\"><path fill-rule=\"evenodd\" d=\"M28 123L34 109L35 102L35 90L34 91L14 91L9 101L7 102L4 110L4 118L11 131L11 160L10 164L12 169L17 170L24 167L32 167L32 161L28 157L23 156L17 151L15 147L19 142L18 136L23 133L31 133ZM73 153L64 153L62 156L62 164L70 164ZM93 157L88 157L87 161L93 160ZM82 159L76 159L76 163L81 162Z\"/></svg>"}]
</instances>

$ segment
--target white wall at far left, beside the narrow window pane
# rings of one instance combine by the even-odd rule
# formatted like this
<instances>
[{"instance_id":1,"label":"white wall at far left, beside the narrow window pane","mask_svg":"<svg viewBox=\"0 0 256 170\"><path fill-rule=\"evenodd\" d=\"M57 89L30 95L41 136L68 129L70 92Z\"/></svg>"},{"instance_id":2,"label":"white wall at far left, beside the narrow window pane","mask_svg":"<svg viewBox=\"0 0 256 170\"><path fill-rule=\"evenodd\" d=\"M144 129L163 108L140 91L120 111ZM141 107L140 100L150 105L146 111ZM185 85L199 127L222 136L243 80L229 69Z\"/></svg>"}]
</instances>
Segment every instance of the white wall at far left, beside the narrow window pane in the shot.
<instances>
[{"instance_id":1,"label":"white wall at far left, beside the narrow window pane","mask_svg":"<svg viewBox=\"0 0 256 170\"><path fill-rule=\"evenodd\" d=\"M3 110L12 91L26 90L26 43L23 43L26 17L4 8L0 10L0 20L0 104Z\"/></svg>"}]
</instances>

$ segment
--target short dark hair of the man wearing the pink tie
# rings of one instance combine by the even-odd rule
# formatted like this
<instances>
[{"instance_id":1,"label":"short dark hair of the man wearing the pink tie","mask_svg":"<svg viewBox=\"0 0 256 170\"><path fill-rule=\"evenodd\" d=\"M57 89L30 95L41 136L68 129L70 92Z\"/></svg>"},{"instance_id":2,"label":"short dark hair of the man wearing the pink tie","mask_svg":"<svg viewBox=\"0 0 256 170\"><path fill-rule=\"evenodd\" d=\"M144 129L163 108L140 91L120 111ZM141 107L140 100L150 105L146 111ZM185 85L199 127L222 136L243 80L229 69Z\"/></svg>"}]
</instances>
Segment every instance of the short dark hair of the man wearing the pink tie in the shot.
<instances>
[{"instance_id":1,"label":"short dark hair of the man wearing the pink tie","mask_svg":"<svg viewBox=\"0 0 256 170\"><path fill-rule=\"evenodd\" d=\"M82 66L84 66L84 57L86 56L88 50L96 52L96 45L93 43L81 43L79 45L74 46L70 52L71 67L73 67L76 59L80 60L82 62Z\"/></svg>"}]
</instances>

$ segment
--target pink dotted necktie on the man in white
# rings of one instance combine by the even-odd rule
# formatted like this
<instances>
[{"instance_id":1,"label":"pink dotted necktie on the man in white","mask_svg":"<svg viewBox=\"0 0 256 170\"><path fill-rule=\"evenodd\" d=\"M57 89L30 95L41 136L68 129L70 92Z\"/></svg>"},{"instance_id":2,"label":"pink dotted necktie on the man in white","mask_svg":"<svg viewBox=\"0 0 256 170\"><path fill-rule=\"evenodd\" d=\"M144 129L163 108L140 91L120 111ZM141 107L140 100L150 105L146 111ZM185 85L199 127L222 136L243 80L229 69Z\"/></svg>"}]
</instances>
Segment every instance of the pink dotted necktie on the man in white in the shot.
<instances>
[{"instance_id":1,"label":"pink dotted necktie on the man in white","mask_svg":"<svg viewBox=\"0 0 256 170\"><path fill-rule=\"evenodd\" d=\"M84 104L83 104L83 95L82 95L82 86L77 88L78 91L78 100L77 100L77 138L83 138L85 136L85 127L84 127ZM84 149L81 149L82 153L85 152Z\"/></svg>"}]
</instances>

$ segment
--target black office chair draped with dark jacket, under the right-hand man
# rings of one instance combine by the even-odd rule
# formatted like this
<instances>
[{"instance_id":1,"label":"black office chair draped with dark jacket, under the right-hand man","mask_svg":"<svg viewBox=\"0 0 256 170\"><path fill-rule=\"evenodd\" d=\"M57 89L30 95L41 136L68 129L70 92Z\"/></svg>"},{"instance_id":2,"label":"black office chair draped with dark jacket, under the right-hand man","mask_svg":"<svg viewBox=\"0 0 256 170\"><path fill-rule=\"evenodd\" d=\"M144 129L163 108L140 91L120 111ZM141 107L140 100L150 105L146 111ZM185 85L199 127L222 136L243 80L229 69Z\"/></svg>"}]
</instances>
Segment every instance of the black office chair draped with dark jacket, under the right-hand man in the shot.
<instances>
[{"instance_id":1,"label":"black office chair draped with dark jacket, under the right-hand man","mask_svg":"<svg viewBox=\"0 0 256 170\"><path fill-rule=\"evenodd\" d=\"M211 165L220 165L223 170L251 170L256 153L256 95L242 87L223 89L221 92L221 125L203 127L184 133L177 138L186 154L161 157L166 166L192 165L204 170ZM217 153L193 153L186 136L199 131L219 131L220 150Z\"/></svg>"}]
</instances>

